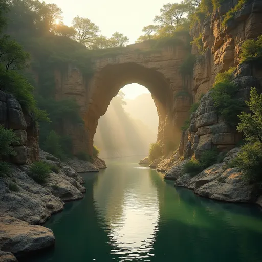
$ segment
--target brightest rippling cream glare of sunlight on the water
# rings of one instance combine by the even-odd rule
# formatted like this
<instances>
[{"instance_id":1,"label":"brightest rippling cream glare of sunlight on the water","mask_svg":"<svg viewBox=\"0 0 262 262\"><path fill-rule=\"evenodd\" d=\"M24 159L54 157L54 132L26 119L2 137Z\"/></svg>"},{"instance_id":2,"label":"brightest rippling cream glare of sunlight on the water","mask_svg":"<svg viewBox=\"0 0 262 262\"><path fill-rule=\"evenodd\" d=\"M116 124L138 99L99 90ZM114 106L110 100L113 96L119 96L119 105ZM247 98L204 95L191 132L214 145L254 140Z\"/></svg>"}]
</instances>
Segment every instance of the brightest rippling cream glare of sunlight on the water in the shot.
<instances>
[{"instance_id":1,"label":"brightest rippling cream glare of sunlight on the water","mask_svg":"<svg viewBox=\"0 0 262 262\"><path fill-rule=\"evenodd\" d=\"M146 258L154 244L158 226L159 210L157 195L150 200L138 198L134 189L124 195L122 223L112 223L112 253L120 255L124 261ZM144 201L143 201L144 200ZM142 255L142 257L141 257Z\"/></svg>"}]
</instances>

